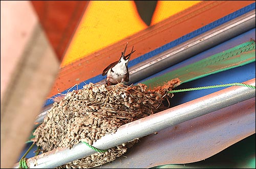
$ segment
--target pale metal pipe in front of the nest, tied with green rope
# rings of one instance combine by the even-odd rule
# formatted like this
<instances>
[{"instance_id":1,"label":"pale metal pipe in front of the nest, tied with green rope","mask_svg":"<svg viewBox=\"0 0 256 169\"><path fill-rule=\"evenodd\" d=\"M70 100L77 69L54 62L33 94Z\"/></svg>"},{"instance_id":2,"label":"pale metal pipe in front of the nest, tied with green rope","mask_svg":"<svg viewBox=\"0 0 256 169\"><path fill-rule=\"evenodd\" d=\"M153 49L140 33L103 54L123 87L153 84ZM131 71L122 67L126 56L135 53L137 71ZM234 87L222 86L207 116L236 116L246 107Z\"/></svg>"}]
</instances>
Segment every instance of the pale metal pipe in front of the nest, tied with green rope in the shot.
<instances>
[{"instance_id":1,"label":"pale metal pipe in front of the nest, tied with green rope","mask_svg":"<svg viewBox=\"0 0 256 169\"><path fill-rule=\"evenodd\" d=\"M255 78L244 83L255 86ZM92 146L101 150L110 149L124 142L152 134L167 127L180 124L187 120L237 104L253 97L255 97L255 89L244 86L228 87L193 101L141 118L129 124L125 124L121 126L116 133L101 137ZM85 144L78 143L70 150L59 148L29 158L27 164L29 168L54 168L94 153L95 151ZM14 167L18 168L18 163L16 163Z\"/></svg>"}]
</instances>

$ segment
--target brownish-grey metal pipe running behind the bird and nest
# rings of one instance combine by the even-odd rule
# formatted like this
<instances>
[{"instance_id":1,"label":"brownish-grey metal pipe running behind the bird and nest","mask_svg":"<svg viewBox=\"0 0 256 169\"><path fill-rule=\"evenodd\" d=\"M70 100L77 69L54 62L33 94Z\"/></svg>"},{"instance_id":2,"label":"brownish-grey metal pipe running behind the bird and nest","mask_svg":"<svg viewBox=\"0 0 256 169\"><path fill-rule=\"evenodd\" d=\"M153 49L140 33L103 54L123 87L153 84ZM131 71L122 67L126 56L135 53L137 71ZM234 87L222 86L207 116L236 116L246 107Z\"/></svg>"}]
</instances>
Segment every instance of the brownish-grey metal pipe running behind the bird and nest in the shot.
<instances>
[{"instance_id":1,"label":"brownish-grey metal pipe running behind the bird and nest","mask_svg":"<svg viewBox=\"0 0 256 169\"><path fill-rule=\"evenodd\" d=\"M148 76L156 74L169 66L175 65L176 63L210 49L213 46L253 28L255 28L255 10L132 66L129 68L129 84L136 83ZM100 82L100 84L103 83L105 83L105 80ZM42 122L49 109L42 111L42 113L37 116L35 122Z\"/></svg>"}]
</instances>

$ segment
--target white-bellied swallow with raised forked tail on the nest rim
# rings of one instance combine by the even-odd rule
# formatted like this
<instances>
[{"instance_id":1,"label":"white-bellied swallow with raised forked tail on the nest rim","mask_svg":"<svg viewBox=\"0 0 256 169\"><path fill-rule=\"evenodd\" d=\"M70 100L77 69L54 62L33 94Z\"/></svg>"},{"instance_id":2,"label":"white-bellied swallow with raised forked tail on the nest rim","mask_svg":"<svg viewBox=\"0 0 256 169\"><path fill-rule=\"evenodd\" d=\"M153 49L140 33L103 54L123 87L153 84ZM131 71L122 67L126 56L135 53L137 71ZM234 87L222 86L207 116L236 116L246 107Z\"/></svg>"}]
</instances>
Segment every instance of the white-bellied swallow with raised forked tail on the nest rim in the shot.
<instances>
[{"instance_id":1,"label":"white-bellied swallow with raised forked tail on the nest rim","mask_svg":"<svg viewBox=\"0 0 256 169\"><path fill-rule=\"evenodd\" d=\"M125 51L127 48L127 44L124 48L124 51L121 52L121 57L118 61L115 61L111 63L108 67L106 67L102 71L102 76L106 75L106 85L115 85L117 83L122 83L122 82L129 82L129 70L127 67L127 64L129 62L129 59L131 55L135 52L133 51L130 54L125 55ZM134 46L133 46L134 47Z\"/></svg>"}]
</instances>

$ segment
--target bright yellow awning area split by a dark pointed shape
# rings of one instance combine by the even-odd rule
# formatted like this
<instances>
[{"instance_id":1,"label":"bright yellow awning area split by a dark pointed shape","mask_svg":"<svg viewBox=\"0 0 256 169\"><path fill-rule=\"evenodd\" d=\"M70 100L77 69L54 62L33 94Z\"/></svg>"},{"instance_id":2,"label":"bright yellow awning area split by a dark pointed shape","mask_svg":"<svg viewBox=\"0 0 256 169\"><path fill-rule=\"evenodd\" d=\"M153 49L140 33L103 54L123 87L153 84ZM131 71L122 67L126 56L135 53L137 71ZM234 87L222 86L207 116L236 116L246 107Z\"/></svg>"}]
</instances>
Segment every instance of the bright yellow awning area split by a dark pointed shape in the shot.
<instances>
[{"instance_id":1,"label":"bright yellow awning area split by a dark pointed shape","mask_svg":"<svg viewBox=\"0 0 256 169\"><path fill-rule=\"evenodd\" d=\"M152 23L200 1L159 1ZM134 1L91 1L84 13L61 67L146 29Z\"/></svg>"}]
</instances>

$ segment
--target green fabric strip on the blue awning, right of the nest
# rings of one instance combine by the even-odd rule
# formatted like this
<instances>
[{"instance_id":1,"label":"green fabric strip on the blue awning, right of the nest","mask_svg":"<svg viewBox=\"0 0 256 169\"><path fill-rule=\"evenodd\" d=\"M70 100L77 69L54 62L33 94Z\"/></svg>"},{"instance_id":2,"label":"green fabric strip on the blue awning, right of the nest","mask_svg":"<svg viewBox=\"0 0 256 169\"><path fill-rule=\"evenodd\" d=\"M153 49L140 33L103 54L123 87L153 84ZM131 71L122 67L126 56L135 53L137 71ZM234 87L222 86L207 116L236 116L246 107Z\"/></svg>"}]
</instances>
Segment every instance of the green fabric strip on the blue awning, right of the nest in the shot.
<instances>
[{"instance_id":1,"label":"green fabric strip on the blue awning, right of the nest","mask_svg":"<svg viewBox=\"0 0 256 169\"><path fill-rule=\"evenodd\" d=\"M248 41L224 52L212 55L193 64L144 81L147 86L155 87L179 78L182 83L203 78L234 67L243 66L255 61L255 42Z\"/></svg>"}]
</instances>

